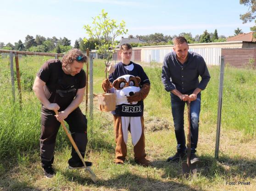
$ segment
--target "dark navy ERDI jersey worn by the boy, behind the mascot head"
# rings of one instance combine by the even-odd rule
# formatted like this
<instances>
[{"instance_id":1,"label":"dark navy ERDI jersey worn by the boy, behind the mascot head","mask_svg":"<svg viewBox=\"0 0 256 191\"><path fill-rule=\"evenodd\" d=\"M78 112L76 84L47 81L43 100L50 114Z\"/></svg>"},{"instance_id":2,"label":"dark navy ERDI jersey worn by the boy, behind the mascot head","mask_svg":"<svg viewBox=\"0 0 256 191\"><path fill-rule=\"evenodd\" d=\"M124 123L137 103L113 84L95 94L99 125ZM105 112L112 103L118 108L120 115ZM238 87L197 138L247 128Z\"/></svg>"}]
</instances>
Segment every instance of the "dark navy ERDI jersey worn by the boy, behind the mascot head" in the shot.
<instances>
[{"instance_id":1,"label":"dark navy ERDI jersey worn by the boy, behind the mascot head","mask_svg":"<svg viewBox=\"0 0 256 191\"><path fill-rule=\"evenodd\" d=\"M133 75L139 76L140 86L143 84L150 84L150 80L139 64L130 62L130 64L125 65L122 62L117 63L115 71L109 75L109 80L113 83L118 77L122 75ZM123 117L141 117L143 116L144 103L143 101L138 101L135 105L121 104L116 106L115 113L117 116Z\"/></svg>"}]
</instances>

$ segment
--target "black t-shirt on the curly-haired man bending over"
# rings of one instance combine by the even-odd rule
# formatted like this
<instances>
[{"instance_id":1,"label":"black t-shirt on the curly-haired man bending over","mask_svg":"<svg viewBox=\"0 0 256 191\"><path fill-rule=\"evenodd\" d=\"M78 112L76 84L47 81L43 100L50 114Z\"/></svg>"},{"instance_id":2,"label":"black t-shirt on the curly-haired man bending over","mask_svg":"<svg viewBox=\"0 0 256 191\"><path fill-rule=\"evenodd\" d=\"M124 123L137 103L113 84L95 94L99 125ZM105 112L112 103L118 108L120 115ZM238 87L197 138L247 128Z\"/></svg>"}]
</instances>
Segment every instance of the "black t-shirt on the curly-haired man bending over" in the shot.
<instances>
[{"instance_id":1,"label":"black t-shirt on the curly-haired man bending over","mask_svg":"<svg viewBox=\"0 0 256 191\"><path fill-rule=\"evenodd\" d=\"M44 91L47 99L50 103L57 103L61 107L60 111L69 106L75 94L73 93L71 99L69 98L67 101L67 99L61 98L61 96L56 96L56 90L77 90L84 88L86 85L86 75L83 69L74 76L65 74L59 59L46 61L37 73L37 76L46 83ZM70 97L70 94L68 96Z\"/></svg>"}]
</instances>

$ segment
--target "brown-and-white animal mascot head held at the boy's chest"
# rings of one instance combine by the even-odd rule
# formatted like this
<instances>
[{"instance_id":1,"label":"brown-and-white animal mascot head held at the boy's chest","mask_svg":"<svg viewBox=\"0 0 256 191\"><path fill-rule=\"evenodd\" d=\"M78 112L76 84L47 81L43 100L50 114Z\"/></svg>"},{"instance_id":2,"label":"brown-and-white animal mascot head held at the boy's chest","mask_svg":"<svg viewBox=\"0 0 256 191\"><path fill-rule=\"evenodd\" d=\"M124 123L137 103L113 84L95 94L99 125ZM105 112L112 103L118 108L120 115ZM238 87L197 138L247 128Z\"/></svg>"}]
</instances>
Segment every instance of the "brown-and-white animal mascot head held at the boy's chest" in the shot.
<instances>
[{"instance_id":1,"label":"brown-and-white animal mascot head held at the boy's chest","mask_svg":"<svg viewBox=\"0 0 256 191\"><path fill-rule=\"evenodd\" d=\"M140 78L133 75L122 75L113 82L115 92L117 95L117 105L121 104L137 104L137 101L128 103L127 97L133 96L134 93L139 92Z\"/></svg>"}]
</instances>

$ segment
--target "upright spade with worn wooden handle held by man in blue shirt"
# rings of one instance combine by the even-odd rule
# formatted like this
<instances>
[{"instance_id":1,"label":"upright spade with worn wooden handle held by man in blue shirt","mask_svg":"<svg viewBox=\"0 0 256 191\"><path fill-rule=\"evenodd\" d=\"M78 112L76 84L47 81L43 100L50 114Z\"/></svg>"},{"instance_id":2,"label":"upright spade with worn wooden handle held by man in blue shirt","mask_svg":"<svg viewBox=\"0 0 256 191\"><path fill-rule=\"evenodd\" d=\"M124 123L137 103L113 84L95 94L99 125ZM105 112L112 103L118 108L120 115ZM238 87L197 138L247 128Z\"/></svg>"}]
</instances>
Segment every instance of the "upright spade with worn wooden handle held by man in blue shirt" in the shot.
<instances>
[{"instance_id":1,"label":"upright spade with worn wooden handle held by man in blue shirt","mask_svg":"<svg viewBox=\"0 0 256 191\"><path fill-rule=\"evenodd\" d=\"M188 177L189 174L195 175L197 169L196 164L191 164L190 162L190 155L191 155L191 141L190 141L190 135L191 135L191 129L190 129L190 103L187 102L188 106L188 137L187 137L187 162L182 163L182 175Z\"/></svg>"}]
</instances>

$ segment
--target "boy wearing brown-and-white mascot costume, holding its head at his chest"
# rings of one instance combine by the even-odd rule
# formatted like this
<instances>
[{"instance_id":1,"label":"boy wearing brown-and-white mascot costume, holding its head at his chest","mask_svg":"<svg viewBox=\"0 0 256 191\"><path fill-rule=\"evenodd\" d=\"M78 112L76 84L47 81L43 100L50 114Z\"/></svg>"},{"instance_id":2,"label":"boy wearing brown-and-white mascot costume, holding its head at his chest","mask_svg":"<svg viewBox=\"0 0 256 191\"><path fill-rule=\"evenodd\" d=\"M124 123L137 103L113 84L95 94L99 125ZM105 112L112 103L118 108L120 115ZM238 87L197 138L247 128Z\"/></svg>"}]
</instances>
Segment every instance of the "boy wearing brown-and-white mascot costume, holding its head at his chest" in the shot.
<instances>
[{"instance_id":1,"label":"boy wearing brown-and-white mascot costume, holding its head at his chest","mask_svg":"<svg viewBox=\"0 0 256 191\"><path fill-rule=\"evenodd\" d=\"M150 161L146 159L145 153L143 100L149 94L150 80L139 64L131 62L130 44L123 44L119 55L122 62L116 64L115 71L109 75L109 80L103 80L102 83L105 92L115 92L117 95L116 110L112 111L117 144L115 163L123 164L125 161L128 131L130 131L135 162L149 166Z\"/></svg>"}]
</instances>

